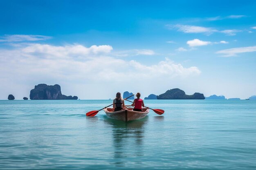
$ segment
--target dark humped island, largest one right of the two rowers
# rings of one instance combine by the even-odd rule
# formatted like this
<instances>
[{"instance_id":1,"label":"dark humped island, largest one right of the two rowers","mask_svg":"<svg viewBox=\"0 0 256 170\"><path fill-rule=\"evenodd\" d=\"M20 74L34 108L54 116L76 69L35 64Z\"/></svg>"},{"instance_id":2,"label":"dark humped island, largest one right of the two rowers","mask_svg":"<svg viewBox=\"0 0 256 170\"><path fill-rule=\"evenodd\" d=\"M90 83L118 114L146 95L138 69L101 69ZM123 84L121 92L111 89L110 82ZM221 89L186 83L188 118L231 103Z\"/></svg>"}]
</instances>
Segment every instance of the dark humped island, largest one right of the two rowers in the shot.
<instances>
[{"instance_id":1,"label":"dark humped island, largest one right of the two rowers","mask_svg":"<svg viewBox=\"0 0 256 170\"><path fill-rule=\"evenodd\" d=\"M158 95L157 99L205 99L204 94L194 93L193 95L186 95L186 93L179 88L173 88L165 93Z\"/></svg>"}]
</instances>

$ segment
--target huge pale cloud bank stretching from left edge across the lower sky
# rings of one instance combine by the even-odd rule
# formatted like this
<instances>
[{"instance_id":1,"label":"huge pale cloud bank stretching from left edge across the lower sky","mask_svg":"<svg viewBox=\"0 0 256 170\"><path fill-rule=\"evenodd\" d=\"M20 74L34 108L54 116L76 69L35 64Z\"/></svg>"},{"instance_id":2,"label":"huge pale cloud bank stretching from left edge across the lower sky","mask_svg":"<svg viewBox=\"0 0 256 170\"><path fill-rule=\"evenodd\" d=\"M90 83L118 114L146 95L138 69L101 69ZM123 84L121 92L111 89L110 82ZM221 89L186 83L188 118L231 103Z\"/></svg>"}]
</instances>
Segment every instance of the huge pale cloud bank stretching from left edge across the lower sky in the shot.
<instances>
[{"instance_id":1,"label":"huge pale cloud bank stretching from left edge across the lower sky","mask_svg":"<svg viewBox=\"0 0 256 170\"><path fill-rule=\"evenodd\" d=\"M174 79L175 82L177 79L193 79L201 73L195 66L184 67L168 58L147 65L128 57L124 60L112 51L110 45L86 47L81 44L54 46L38 43L11 50L0 49L0 88L21 88L23 84L31 89L39 83L58 83L76 91L69 95L101 99L101 93L108 93L106 88L114 94L121 91L119 89L135 88L133 82L137 84L136 89L146 91L150 90L148 84L149 88L159 87L159 82L167 86ZM150 51L139 52L152 54ZM98 96L93 92L96 89Z\"/></svg>"}]
</instances>

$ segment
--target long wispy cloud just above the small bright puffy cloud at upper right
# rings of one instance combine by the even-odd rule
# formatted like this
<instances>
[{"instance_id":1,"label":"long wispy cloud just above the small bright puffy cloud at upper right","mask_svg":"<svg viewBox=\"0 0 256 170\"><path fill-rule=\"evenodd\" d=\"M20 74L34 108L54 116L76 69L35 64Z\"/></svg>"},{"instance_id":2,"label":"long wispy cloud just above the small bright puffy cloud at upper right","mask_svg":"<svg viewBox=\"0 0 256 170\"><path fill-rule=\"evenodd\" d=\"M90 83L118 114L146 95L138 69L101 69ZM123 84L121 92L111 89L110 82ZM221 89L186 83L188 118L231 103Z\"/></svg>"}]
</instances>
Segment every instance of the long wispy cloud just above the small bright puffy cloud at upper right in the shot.
<instances>
[{"instance_id":1,"label":"long wispy cloud just above the small bright puffy cloud at upper right","mask_svg":"<svg viewBox=\"0 0 256 170\"><path fill-rule=\"evenodd\" d=\"M193 26L193 25L168 24L166 26L168 26L168 29L178 29L178 31L184 32L184 33L207 33L209 35L217 31L216 29L213 29L210 27Z\"/></svg>"}]
</instances>

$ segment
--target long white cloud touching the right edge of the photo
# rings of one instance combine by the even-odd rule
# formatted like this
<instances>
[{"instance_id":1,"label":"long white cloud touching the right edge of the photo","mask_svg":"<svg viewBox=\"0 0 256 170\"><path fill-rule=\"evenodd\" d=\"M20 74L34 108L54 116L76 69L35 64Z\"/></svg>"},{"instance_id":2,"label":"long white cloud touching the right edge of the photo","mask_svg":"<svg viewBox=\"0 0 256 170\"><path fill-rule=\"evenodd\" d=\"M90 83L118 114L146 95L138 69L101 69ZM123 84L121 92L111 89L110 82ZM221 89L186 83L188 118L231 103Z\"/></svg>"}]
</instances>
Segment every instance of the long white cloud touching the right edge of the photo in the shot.
<instances>
[{"instance_id":1,"label":"long white cloud touching the right edge of the photo","mask_svg":"<svg viewBox=\"0 0 256 170\"><path fill-rule=\"evenodd\" d=\"M248 53L256 51L256 46L238 47L217 51L217 54L223 54L222 57L236 56L237 53Z\"/></svg>"}]
</instances>

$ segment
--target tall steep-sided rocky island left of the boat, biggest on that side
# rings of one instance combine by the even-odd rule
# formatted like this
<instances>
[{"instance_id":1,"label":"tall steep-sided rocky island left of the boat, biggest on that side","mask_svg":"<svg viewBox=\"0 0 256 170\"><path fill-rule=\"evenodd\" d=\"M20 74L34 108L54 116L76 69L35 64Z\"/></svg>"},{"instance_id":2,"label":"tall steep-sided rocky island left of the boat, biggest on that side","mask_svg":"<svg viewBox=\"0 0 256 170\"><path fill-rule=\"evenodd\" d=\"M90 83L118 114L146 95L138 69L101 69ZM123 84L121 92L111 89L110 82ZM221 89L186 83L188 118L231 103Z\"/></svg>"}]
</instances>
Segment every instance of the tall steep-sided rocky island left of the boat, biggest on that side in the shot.
<instances>
[{"instance_id":1,"label":"tall steep-sided rocky island left of the boat, biggest on that side","mask_svg":"<svg viewBox=\"0 0 256 170\"><path fill-rule=\"evenodd\" d=\"M38 84L34 89L30 91L29 98L31 100L67 100L73 99L77 100L77 96L66 96L61 94L61 86L55 84L54 86L50 86L47 84Z\"/></svg>"}]
</instances>

